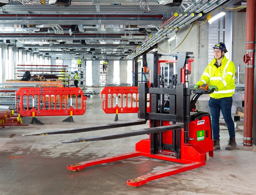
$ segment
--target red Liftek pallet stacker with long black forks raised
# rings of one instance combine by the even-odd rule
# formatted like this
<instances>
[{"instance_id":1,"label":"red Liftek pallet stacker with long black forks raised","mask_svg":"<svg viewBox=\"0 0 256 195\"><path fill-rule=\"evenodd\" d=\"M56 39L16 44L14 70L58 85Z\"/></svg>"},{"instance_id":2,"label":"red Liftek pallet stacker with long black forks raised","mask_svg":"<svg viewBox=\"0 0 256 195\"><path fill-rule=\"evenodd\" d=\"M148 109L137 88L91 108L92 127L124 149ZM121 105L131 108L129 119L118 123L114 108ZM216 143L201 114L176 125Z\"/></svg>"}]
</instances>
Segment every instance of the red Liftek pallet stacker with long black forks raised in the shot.
<instances>
[{"instance_id":1,"label":"red Liftek pallet stacker with long black forks raised","mask_svg":"<svg viewBox=\"0 0 256 195\"><path fill-rule=\"evenodd\" d=\"M147 83L140 83L138 86L138 121L86 127L82 129L31 133L24 134L24 136L95 131L145 124L147 120L149 120L150 127L146 129L115 133L107 136L81 137L67 141L59 141L60 143L88 142L149 134L148 139L137 142L135 152L133 153L71 164L67 166L67 169L77 171L88 166L110 163L137 156L182 163L182 165L173 168L142 175L126 181L127 185L138 187L148 181L204 166L209 156L213 157L211 118L208 113L196 111L195 102L200 95L211 92L208 92L207 88L201 86L194 92L196 95L190 102L191 90L186 87L186 85L189 85L187 80L187 75L189 74L189 70L187 69L188 59L190 58L189 54L191 53L177 54L178 61L183 61L182 68L185 70L183 69L184 74L181 74L181 76L186 83L178 83L176 81L177 75L175 75L172 80L172 88L164 88L164 75L156 74L157 70L159 70L156 65L158 56L154 54L154 67L152 67L154 76L152 76L152 85L149 87ZM150 112L147 112L147 94L150 94ZM169 105L167 104L168 101ZM190 107L193 108L193 112L190 112Z\"/></svg>"}]
</instances>

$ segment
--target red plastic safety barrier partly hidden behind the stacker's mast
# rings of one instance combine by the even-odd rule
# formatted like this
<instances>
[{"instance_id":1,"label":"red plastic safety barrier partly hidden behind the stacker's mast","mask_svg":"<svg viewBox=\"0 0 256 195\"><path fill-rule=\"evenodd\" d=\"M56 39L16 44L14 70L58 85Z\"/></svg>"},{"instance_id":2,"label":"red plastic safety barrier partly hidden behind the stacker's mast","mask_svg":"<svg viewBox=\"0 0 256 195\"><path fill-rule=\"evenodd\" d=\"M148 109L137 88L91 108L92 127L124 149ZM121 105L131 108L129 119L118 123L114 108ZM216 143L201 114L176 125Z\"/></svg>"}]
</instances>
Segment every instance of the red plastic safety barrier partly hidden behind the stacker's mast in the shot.
<instances>
[{"instance_id":1,"label":"red plastic safety barrier partly hidden behind the stacker's mast","mask_svg":"<svg viewBox=\"0 0 256 195\"><path fill-rule=\"evenodd\" d=\"M107 114L138 112L137 86L106 86L101 92L101 98L105 98L102 101L102 109Z\"/></svg>"}]
</instances>

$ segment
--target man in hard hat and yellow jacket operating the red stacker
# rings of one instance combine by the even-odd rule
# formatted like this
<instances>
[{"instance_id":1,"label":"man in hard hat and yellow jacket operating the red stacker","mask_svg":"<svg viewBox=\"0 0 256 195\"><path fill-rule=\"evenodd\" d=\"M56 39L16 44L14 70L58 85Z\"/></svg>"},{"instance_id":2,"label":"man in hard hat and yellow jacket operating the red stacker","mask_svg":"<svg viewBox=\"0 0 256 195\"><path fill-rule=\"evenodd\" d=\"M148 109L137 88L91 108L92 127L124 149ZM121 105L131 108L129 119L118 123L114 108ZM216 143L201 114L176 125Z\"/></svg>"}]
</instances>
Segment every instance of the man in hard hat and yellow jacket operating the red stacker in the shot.
<instances>
[{"instance_id":1,"label":"man in hard hat and yellow jacket operating the red stacker","mask_svg":"<svg viewBox=\"0 0 256 195\"><path fill-rule=\"evenodd\" d=\"M224 43L220 42L213 47L214 59L208 64L200 80L195 84L197 90L202 84L208 84L208 90L214 89L209 94L209 107L213 129L213 148L220 149L220 110L227 123L229 141L226 150L233 150L237 146L235 142L235 125L231 116L232 95L235 92L235 65L228 60L225 53L228 52Z\"/></svg>"}]
</instances>

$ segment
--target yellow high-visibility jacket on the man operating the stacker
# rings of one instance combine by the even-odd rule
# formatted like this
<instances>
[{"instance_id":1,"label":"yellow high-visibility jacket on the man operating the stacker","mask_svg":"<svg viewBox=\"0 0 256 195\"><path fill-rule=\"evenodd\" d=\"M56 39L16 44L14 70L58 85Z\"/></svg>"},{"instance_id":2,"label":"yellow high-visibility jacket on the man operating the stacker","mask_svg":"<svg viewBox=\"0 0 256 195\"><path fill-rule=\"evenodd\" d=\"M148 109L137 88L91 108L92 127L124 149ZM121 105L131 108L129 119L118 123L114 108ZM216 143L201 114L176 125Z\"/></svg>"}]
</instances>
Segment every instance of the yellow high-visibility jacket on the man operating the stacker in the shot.
<instances>
[{"instance_id":1,"label":"yellow high-visibility jacket on the man operating the stacker","mask_svg":"<svg viewBox=\"0 0 256 195\"><path fill-rule=\"evenodd\" d=\"M218 90L209 94L210 97L215 99L232 97L233 93L235 93L235 64L228 60L225 55L220 67L217 68L214 65L215 62L216 59L214 58L208 64L200 80L195 85L208 84L218 87Z\"/></svg>"}]
</instances>

